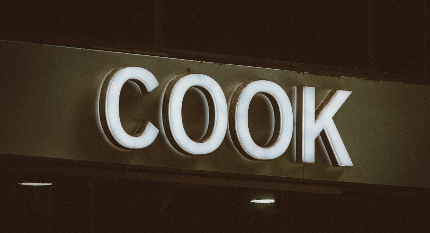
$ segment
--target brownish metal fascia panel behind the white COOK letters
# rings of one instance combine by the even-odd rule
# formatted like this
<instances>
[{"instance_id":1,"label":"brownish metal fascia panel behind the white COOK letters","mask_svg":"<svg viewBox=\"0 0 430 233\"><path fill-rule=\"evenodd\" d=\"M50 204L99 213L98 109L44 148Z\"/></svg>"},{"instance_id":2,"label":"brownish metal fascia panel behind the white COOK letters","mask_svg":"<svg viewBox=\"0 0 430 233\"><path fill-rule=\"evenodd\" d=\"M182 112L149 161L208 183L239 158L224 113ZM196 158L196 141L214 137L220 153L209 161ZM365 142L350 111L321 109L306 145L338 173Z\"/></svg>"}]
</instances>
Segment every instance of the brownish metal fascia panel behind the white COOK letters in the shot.
<instances>
[{"instance_id":1,"label":"brownish metal fascia panel behind the white COOK letters","mask_svg":"<svg viewBox=\"0 0 430 233\"><path fill-rule=\"evenodd\" d=\"M217 150L201 156L174 152L161 134L146 148L116 149L103 137L96 109L103 79L120 66L143 67L160 83L150 94L120 101L122 124L130 130L139 120L160 127L161 93L168 81L185 73L212 77L227 101L251 79L275 82L290 99L295 85L316 87L317 104L331 89L352 91L333 120L354 168L330 167L319 143L315 164L294 163L291 144L274 160L249 160L234 149L228 132ZM430 187L429 86L5 41L0 41L0 67L1 154Z\"/></svg>"}]
</instances>

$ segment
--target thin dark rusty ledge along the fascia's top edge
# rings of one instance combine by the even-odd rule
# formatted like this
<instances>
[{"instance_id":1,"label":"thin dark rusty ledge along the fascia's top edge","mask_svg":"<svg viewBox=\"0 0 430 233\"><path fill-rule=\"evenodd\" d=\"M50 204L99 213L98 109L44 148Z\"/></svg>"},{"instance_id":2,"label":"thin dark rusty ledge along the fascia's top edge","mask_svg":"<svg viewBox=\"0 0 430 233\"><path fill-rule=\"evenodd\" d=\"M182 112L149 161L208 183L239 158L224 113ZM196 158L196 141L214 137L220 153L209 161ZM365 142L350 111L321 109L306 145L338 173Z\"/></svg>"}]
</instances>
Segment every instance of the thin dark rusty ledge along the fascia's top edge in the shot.
<instances>
[{"instance_id":1,"label":"thin dark rusty ledge along the fascia's top edge","mask_svg":"<svg viewBox=\"0 0 430 233\"><path fill-rule=\"evenodd\" d=\"M233 55L222 55L215 53L205 53L196 51L185 51L161 47L136 46L129 44L119 44L101 41L82 40L76 38L46 37L28 33L17 33L0 30L0 40L11 42L27 42L41 45L54 45L62 47L74 47L95 49L103 51L114 51L123 53L143 54L151 56L170 57L178 59L208 61L213 63L235 64L245 66L264 67L282 70L294 70L298 72L308 72L318 75L359 77L369 80L396 81L402 83L430 85L429 76L416 76L410 74L397 74L379 72L373 70L360 70L345 67L334 67L316 64L304 64L298 62L288 62L280 60L269 60L261 58L241 57Z\"/></svg>"}]
</instances>

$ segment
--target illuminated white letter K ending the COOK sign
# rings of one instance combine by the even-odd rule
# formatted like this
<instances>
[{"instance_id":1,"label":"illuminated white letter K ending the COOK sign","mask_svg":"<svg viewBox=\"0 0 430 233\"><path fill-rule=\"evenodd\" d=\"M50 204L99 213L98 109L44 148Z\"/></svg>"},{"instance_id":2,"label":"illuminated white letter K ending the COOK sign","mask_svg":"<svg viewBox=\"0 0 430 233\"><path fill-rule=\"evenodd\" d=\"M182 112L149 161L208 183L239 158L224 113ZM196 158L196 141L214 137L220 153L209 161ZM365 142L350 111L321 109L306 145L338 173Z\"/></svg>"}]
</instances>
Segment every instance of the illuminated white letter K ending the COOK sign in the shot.
<instances>
[{"instance_id":1,"label":"illuminated white letter K ending the COOK sign","mask_svg":"<svg viewBox=\"0 0 430 233\"><path fill-rule=\"evenodd\" d=\"M315 88L297 87L296 162L315 162L315 139L319 137L333 167L353 167L332 119L350 94L331 90L315 109Z\"/></svg>"}]
</instances>

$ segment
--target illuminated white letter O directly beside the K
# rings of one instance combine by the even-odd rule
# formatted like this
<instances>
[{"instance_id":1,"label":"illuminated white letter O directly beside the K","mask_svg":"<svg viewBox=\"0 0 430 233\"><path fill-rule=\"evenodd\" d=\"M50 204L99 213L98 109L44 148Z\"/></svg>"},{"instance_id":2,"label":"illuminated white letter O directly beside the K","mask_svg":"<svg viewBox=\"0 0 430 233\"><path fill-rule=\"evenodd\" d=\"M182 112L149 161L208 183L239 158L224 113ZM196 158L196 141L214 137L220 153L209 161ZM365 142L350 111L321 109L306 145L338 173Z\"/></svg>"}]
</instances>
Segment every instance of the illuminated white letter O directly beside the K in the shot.
<instances>
[{"instance_id":1,"label":"illuminated white letter O directly beside the K","mask_svg":"<svg viewBox=\"0 0 430 233\"><path fill-rule=\"evenodd\" d=\"M257 145L248 127L248 110L252 97L264 94L273 107L273 135L265 146ZM269 160L279 157L288 148L293 134L293 110L285 91L267 80L249 80L233 92L229 107L229 131L236 149L245 157Z\"/></svg>"}]
</instances>

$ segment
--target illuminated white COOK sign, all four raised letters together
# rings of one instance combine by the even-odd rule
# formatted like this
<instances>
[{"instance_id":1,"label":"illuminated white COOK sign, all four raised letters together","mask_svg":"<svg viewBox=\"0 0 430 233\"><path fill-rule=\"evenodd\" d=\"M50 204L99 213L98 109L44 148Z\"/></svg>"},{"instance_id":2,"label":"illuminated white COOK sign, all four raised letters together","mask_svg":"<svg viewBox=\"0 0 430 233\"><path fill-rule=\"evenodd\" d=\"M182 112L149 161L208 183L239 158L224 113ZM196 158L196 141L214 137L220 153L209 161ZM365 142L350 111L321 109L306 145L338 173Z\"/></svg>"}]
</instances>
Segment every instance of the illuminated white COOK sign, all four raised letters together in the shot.
<instances>
[{"instance_id":1,"label":"illuminated white COOK sign, all four raised letters together","mask_svg":"<svg viewBox=\"0 0 430 233\"><path fill-rule=\"evenodd\" d=\"M315 140L318 139L332 166L353 167L332 117L342 106L349 91L332 90L315 108L315 88L297 86L290 100L287 93L268 80L248 80L230 96L229 106L218 83L204 74L176 76L161 96L161 125L141 122L136 132L127 134L119 118L119 94L125 82L131 82L141 94L159 86L154 75L140 67L118 67L112 70L100 89L98 118L106 138L121 149L140 149L150 145L159 129L176 151L202 155L215 151L229 130L231 143L249 159L270 160L282 155L292 142L296 163L314 163ZM206 99L206 132L200 140L191 140L182 123L182 101L189 89ZM272 136L263 146L252 140L248 128L251 99L263 94L272 108Z\"/></svg>"}]
</instances>

